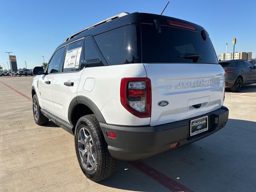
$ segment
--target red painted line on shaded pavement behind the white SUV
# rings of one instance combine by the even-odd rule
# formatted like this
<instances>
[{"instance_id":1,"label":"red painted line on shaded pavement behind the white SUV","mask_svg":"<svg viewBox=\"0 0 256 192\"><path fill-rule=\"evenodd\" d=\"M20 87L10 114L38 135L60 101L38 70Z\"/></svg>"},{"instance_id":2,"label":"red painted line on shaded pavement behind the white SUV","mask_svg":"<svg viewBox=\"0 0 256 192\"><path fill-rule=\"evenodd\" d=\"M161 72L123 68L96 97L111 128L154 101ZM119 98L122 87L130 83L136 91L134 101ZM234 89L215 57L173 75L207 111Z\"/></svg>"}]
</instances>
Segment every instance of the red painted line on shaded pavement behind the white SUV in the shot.
<instances>
[{"instance_id":1,"label":"red painted line on shaded pavement behind the white SUV","mask_svg":"<svg viewBox=\"0 0 256 192\"><path fill-rule=\"evenodd\" d=\"M186 188L182 184L172 180L170 177L162 174L158 170L148 166L147 164L140 162L140 161L131 161L129 162L132 166L149 176L150 178L154 179L158 183L162 184L166 188L172 190L173 192L193 192L192 190Z\"/></svg>"}]
</instances>

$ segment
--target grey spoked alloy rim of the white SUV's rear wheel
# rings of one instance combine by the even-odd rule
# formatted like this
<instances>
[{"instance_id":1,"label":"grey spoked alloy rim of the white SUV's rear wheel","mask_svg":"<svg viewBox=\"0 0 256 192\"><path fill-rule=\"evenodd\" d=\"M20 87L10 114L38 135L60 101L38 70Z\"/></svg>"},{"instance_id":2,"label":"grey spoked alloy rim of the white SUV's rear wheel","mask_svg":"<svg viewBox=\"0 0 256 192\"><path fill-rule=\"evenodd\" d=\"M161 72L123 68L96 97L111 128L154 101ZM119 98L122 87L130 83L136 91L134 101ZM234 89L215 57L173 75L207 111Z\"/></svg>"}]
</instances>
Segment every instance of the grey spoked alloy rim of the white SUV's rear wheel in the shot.
<instances>
[{"instance_id":1,"label":"grey spoked alloy rim of the white SUV's rear wheel","mask_svg":"<svg viewBox=\"0 0 256 192\"><path fill-rule=\"evenodd\" d=\"M80 129L77 137L78 151L80 160L87 170L94 169L96 162L95 148L92 137L87 128Z\"/></svg>"}]
</instances>

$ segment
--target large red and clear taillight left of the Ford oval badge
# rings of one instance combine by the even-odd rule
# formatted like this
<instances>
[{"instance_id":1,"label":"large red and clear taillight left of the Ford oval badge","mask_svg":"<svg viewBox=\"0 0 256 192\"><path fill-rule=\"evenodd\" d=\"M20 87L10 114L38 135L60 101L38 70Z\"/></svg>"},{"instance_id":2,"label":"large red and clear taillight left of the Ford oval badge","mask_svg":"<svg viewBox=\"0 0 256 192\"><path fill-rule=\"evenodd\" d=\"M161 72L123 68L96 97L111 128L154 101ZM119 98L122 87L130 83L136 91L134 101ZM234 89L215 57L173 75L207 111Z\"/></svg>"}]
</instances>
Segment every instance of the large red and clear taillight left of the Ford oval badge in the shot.
<instances>
[{"instance_id":1,"label":"large red and clear taillight left of the Ford oval badge","mask_svg":"<svg viewBox=\"0 0 256 192\"><path fill-rule=\"evenodd\" d=\"M122 78L120 85L122 106L140 118L150 117L151 86L149 78Z\"/></svg>"}]
</instances>

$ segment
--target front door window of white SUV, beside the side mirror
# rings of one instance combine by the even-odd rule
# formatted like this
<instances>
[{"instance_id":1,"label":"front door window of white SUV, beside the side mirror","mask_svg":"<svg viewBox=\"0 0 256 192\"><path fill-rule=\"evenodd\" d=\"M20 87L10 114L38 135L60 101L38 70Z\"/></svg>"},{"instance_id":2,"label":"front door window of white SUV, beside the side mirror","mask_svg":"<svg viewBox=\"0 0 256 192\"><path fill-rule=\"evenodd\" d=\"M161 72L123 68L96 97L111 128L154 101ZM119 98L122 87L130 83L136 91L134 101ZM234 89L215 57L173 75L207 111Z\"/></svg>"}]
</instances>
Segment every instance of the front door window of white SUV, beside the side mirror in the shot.
<instances>
[{"instance_id":1,"label":"front door window of white SUV, beside the side mirror","mask_svg":"<svg viewBox=\"0 0 256 192\"><path fill-rule=\"evenodd\" d=\"M50 63L48 64L48 69L47 69L48 73L59 72L64 49L65 47L62 47L54 53L54 55L52 56L52 59L50 60Z\"/></svg>"}]
</instances>

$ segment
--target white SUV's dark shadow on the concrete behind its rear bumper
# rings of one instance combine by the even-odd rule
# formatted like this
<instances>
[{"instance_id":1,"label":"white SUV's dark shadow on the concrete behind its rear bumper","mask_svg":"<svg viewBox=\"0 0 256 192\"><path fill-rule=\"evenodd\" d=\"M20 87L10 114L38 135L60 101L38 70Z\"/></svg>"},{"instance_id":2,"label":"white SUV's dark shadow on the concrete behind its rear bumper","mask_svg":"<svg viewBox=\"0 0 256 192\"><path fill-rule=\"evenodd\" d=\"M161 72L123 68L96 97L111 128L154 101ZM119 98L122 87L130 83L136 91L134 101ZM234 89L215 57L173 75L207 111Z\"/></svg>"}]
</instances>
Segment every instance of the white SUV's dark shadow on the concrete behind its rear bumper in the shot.
<instances>
[{"instance_id":1,"label":"white SUV's dark shadow on the concrete behind its rear bumper","mask_svg":"<svg viewBox=\"0 0 256 192\"><path fill-rule=\"evenodd\" d=\"M256 122L229 119L224 128L202 140L141 161L196 192L252 191L255 137ZM124 161L99 184L132 191L168 191Z\"/></svg>"}]
</instances>

